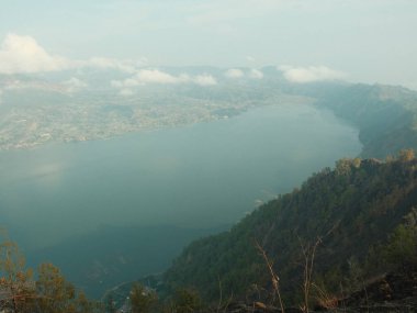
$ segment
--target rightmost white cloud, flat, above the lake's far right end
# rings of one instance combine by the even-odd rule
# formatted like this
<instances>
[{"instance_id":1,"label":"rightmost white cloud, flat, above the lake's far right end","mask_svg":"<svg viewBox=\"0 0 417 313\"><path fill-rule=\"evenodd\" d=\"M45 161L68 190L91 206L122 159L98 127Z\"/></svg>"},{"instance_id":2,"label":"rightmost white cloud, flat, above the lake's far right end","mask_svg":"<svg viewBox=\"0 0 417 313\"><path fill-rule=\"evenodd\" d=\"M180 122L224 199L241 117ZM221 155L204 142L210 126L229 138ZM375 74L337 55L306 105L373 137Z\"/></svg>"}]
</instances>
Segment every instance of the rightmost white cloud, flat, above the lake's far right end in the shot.
<instances>
[{"instance_id":1,"label":"rightmost white cloud, flat, above the lake's far right end","mask_svg":"<svg viewBox=\"0 0 417 313\"><path fill-rule=\"evenodd\" d=\"M313 82L322 80L343 79L346 74L326 66L292 67L280 66L286 80L292 82Z\"/></svg>"}]
</instances>

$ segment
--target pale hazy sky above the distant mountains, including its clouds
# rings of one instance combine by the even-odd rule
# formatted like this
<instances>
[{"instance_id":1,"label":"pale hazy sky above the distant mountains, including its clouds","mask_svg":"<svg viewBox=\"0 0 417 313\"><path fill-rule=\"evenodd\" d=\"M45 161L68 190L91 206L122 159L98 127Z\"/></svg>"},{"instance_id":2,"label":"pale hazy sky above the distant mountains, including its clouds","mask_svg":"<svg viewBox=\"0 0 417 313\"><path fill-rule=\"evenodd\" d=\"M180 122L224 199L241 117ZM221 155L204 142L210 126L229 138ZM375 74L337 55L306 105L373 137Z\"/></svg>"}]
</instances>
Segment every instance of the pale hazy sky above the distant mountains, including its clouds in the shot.
<instances>
[{"instance_id":1,"label":"pale hazy sky above the distant mountains, including its clouds","mask_svg":"<svg viewBox=\"0 0 417 313\"><path fill-rule=\"evenodd\" d=\"M417 90L416 30L415 0L0 0L0 72L274 65Z\"/></svg>"}]
</instances>

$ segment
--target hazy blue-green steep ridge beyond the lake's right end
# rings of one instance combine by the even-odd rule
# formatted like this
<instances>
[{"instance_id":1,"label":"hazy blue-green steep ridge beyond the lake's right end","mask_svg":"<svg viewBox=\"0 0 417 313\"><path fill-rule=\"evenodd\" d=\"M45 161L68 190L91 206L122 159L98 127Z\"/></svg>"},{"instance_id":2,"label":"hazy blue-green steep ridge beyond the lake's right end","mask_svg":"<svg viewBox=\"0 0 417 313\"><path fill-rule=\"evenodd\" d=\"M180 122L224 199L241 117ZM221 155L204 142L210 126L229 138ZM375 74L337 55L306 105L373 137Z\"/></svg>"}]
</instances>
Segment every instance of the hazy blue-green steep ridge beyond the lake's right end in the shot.
<instances>
[{"instance_id":1,"label":"hazy blue-green steep ridge beyond the lake's right end","mask_svg":"<svg viewBox=\"0 0 417 313\"><path fill-rule=\"evenodd\" d=\"M317 107L358 126L362 157L384 158L403 148L417 149L417 92L382 85L339 85L304 91Z\"/></svg>"}]
</instances>

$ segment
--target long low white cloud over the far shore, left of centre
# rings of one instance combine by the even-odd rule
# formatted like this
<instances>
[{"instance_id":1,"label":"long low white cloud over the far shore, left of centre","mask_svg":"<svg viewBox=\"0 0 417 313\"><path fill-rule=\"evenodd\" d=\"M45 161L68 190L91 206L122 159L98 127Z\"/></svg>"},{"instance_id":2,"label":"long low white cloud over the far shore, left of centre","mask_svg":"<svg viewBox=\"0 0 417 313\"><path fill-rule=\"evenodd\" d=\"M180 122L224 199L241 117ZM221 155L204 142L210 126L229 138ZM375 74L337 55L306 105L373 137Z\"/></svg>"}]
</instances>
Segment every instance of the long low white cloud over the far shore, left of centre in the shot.
<instances>
[{"instance_id":1,"label":"long low white cloud over the far shore, left of centre","mask_svg":"<svg viewBox=\"0 0 417 313\"><path fill-rule=\"evenodd\" d=\"M111 82L114 88L119 89L132 88L146 83L195 83L200 86L210 86L216 85L217 81L213 76L210 75L199 75L192 77L188 74L181 74L179 76L173 76L159 69L140 69L133 77L129 77L125 80L112 80Z\"/></svg>"}]
</instances>

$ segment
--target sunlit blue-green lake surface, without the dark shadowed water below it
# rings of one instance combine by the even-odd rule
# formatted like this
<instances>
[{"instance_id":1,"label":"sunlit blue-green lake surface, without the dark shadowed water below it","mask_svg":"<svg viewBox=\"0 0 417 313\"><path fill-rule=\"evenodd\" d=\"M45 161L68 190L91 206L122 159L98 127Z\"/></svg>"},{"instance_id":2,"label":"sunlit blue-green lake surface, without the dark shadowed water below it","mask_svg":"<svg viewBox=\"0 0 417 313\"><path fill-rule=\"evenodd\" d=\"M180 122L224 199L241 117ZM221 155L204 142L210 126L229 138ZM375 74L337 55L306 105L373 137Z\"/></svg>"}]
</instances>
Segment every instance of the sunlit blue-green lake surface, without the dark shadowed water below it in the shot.
<instances>
[{"instance_id":1,"label":"sunlit blue-green lake surface, without the dark shadowed water below it","mask_svg":"<svg viewBox=\"0 0 417 313\"><path fill-rule=\"evenodd\" d=\"M311 105L0 153L2 226L41 246L99 225L234 223L359 154L358 131Z\"/></svg>"}]
</instances>

